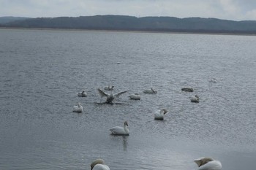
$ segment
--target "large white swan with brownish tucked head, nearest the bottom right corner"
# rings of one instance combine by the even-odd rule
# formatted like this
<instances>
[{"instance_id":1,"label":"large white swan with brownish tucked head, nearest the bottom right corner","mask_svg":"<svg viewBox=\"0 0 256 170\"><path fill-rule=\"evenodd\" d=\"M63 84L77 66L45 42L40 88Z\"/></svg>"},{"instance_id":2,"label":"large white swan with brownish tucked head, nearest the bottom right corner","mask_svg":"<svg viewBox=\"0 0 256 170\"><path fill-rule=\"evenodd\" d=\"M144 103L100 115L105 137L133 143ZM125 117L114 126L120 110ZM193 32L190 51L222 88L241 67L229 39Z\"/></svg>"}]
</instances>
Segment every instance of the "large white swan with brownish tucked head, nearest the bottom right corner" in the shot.
<instances>
[{"instance_id":1,"label":"large white swan with brownish tucked head, nearest the bottom right corner","mask_svg":"<svg viewBox=\"0 0 256 170\"><path fill-rule=\"evenodd\" d=\"M199 167L197 170L220 170L222 169L222 163L212 158L198 158L194 160Z\"/></svg>"}]
</instances>

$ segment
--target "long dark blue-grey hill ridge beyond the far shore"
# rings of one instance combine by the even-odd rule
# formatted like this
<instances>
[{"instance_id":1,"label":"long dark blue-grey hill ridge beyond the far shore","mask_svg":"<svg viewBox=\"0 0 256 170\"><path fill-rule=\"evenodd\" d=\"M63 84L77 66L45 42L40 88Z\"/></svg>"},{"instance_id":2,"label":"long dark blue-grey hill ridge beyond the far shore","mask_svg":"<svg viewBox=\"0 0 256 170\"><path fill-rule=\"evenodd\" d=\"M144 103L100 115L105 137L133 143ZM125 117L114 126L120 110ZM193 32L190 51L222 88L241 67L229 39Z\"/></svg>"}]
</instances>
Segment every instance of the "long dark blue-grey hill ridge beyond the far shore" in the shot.
<instances>
[{"instance_id":1,"label":"long dark blue-grey hill ridge beyond the far shore","mask_svg":"<svg viewBox=\"0 0 256 170\"><path fill-rule=\"evenodd\" d=\"M26 18L25 20L1 23L0 27L256 34L255 20L234 21L217 18L174 17L136 18L125 15Z\"/></svg>"}]
</instances>

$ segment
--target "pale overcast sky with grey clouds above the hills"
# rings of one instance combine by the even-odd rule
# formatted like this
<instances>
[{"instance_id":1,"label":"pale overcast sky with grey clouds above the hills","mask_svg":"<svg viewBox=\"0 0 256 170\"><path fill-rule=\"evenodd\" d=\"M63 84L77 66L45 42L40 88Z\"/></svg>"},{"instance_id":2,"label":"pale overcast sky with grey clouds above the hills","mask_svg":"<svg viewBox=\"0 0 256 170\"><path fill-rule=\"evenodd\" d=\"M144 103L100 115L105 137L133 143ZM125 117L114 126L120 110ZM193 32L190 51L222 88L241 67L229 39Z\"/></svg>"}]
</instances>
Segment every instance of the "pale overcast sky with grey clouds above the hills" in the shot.
<instances>
[{"instance_id":1,"label":"pale overcast sky with grey clouds above the hills","mask_svg":"<svg viewBox=\"0 0 256 170\"><path fill-rule=\"evenodd\" d=\"M256 20L256 0L0 0L0 17L89 15Z\"/></svg>"}]
</instances>

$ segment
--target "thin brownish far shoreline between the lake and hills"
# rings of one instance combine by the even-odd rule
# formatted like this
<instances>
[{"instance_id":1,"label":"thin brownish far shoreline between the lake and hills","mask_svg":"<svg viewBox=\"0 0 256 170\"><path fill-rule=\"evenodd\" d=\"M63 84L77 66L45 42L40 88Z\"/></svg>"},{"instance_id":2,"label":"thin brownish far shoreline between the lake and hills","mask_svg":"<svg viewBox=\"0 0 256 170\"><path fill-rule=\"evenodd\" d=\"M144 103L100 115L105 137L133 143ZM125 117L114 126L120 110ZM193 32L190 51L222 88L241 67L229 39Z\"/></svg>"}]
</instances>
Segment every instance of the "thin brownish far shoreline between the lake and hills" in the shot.
<instances>
[{"instance_id":1,"label":"thin brownish far shoreline between the lake and hills","mask_svg":"<svg viewBox=\"0 0 256 170\"><path fill-rule=\"evenodd\" d=\"M152 30L118 30L118 29L81 29L81 28L25 28L25 27L0 27L10 30L51 30L51 31L109 31L109 32L132 32L132 33L156 33L156 34L208 34L208 35L237 35L256 36L256 33L228 33L225 31L152 31Z\"/></svg>"}]
</instances>

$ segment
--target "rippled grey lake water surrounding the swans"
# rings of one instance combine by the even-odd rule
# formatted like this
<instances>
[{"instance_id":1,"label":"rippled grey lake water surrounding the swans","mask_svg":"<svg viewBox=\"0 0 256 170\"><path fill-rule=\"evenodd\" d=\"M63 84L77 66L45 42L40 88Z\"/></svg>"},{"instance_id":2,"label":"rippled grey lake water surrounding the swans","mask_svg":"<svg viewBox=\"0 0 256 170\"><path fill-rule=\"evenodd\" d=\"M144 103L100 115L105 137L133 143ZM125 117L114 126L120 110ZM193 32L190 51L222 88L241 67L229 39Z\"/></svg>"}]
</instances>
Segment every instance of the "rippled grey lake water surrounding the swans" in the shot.
<instances>
[{"instance_id":1,"label":"rippled grey lake water surrounding the swans","mask_svg":"<svg viewBox=\"0 0 256 170\"><path fill-rule=\"evenodd\" d=\"M191 170L204 156L255 169L256 36L0 29L0 39L0 169L90 169L102 158L112 170ZM107 85L129 91L99 104ZM110 135L124 120L130 135Z\"/></svg>"}]
</instances>

